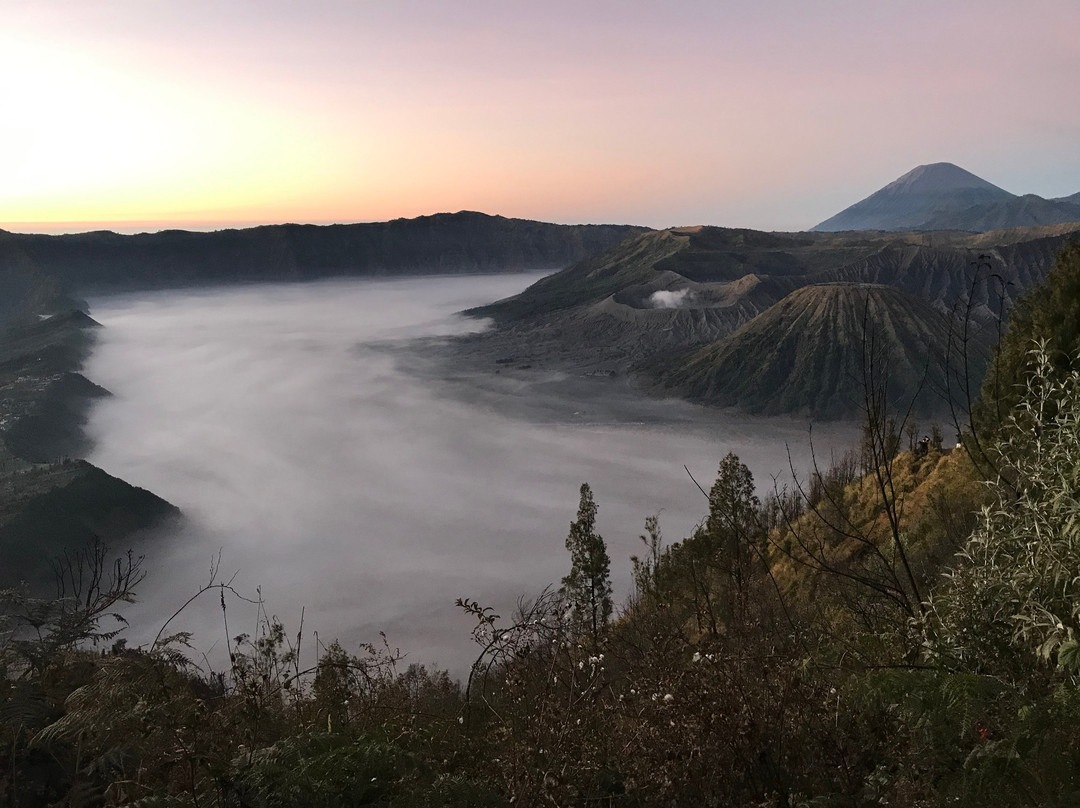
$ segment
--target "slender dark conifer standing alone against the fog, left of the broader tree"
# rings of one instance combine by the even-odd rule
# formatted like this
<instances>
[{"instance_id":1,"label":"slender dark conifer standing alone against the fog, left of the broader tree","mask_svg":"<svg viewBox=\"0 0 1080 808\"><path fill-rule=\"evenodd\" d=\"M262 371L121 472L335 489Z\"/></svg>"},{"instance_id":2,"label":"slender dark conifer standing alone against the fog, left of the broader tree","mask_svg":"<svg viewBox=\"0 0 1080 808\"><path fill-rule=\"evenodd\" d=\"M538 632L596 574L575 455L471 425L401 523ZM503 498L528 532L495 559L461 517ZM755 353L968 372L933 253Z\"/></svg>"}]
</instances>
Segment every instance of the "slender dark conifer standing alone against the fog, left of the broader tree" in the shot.
<instances>
[{"instance_id":1,"label":"slender dark conifer standing alone against the fog, left of the broader tree","mask_svg":"<svg viewBox=\"0 0 1080 808\"><path fill-rule=\"evenodd\" d=\"M570 574L563 579L563 594L575 623L596 645L611 618L611 560L604 539L596 533L596 502L589 483L581 484L578 519L570 523L566 549L570 553Z\"/></svg>"}]
</instances>

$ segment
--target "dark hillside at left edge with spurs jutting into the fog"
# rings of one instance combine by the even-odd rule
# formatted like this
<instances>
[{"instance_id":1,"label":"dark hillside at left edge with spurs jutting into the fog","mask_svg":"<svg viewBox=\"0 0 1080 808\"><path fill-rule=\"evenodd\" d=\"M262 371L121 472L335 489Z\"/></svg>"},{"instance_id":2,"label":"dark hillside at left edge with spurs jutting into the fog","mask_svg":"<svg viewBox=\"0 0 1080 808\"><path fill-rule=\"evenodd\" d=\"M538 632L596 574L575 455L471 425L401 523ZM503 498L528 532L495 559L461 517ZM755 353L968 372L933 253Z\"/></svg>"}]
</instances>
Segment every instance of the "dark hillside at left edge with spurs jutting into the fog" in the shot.
<instances>
[{"instance_id":1,"label":"dark hillside at left edge with spurs jutting into the fog","mask_svg":"<svg viewBox=\"0 0 1080 808\"><path fill-rule=\"evenodd\" d=\"M86 448L87 407L109 394L79 373L98 327L80 310L24 312L0 327L0 588L48 585L51 558L95 537L120 546L178 515L160 497L70 459Z\"/></svg>"}]
</instances>

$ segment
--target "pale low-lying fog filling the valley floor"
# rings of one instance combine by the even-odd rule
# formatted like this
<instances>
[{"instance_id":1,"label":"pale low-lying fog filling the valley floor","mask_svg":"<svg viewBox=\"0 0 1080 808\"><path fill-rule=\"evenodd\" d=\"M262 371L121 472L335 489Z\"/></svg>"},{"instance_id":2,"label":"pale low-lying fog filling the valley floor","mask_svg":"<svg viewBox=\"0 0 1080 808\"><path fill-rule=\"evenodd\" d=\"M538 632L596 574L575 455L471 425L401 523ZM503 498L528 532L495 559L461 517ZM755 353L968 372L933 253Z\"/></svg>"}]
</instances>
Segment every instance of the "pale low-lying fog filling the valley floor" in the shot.
<instances>
[{"instance_id":1,"label":"pale low-lying fog filling the valley floor","mask_svg":"<svg viewBox=\"0 0 1080 808\"><path fill-rule=\"evenodd\" d=\"M599 506L617 597L647 515L667 540L687 535L733 450L759 488L806 467L807 426L627 396L610 381L474 379L437 364L418 337L483 327L456 315L518 292L537 274L347 280L100 298L106 327L85 374L114 396L91 415L90 460L178 506L187 524L148 541L150 576L131 614L132 642L206 582L225 577L295 634L347 647L386 632L409 661L455 673L474 656L458 596L509 616L518 595L557 583L583 481ZM441 367L446 371L444 380ZM492 379L504 382L492 383ZM556 380L557 381L557 380ZM608 421L604 393L619 400ZM541 393L541 391L543 391ZM577 396L588 405L579 407ZM627 403L629 402L629 403ZM616 417L616 416L611 416ZM605 422L607 421L607 422ZM637 421L637 422L631 422ZM643 425L642 421L649 421ZM814 429L843 448L850 427ZM225 646L218 598L172 629L201 650ZM256 615L232 602L229 631ZM312 661L309 659L308 661Z\"/></svg>"}]
</instances>

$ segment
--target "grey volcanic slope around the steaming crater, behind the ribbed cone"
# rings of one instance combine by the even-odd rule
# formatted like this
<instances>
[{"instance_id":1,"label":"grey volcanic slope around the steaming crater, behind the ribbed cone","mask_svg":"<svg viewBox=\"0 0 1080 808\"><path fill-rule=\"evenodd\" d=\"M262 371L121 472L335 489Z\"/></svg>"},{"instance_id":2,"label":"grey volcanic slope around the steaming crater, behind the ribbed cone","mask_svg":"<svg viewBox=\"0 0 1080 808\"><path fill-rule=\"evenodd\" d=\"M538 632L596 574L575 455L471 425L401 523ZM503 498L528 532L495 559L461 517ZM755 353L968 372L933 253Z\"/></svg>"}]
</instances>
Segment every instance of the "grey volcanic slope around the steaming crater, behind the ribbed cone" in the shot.
<instances>
[{"instance_id":1,"label":"grey volcanic slope around the steaming crater, behind the ribbed cone","mask_svg":"<svg viewBox=\"0 0 1080 808\"><path fill-rule=\"evenodd\" d=\"M624 374L731 333L808 275L866 259L882 243L719 227L646 233L467 312L498 327L459 340L458 352L482 367Z\"/></svg>"}]
</instances>

